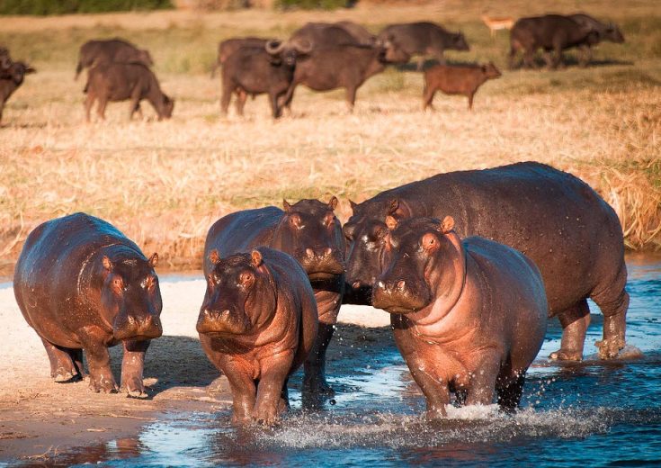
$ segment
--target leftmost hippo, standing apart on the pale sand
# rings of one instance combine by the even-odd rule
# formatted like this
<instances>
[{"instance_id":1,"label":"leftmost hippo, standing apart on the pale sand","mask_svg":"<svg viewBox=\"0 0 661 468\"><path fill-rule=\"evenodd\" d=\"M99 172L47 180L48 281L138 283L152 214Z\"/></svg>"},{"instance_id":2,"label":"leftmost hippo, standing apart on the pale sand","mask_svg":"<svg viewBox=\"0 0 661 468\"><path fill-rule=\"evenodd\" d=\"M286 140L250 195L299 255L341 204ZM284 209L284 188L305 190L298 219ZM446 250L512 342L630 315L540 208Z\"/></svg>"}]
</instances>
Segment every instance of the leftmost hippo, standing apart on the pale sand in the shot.
<instances>
[{"instance_id":1,"label":"leftmost hippo, standing apart on the pale sand","mask_svg":"<svg viewBox=\"0 0 661 468\"><path fill-rule=\"evenodd\" d=\"M157 261L112 224L82 212L31 231L16 264L13 291L46 348L55 382L85 376L85 351L90 389L116 392L108 347L121 343L121 390L146 396L145 353L150 340L163 334Z\"/></svg>"}]
</instances>

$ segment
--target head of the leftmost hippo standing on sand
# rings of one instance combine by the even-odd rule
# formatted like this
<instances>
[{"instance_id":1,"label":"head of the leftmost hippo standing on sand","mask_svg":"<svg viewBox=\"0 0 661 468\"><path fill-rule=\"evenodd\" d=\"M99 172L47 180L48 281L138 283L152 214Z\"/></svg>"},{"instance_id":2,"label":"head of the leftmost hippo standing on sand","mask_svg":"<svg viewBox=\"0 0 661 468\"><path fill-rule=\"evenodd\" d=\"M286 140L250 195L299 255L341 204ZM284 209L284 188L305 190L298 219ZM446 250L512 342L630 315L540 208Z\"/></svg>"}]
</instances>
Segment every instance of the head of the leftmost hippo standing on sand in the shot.
<instances>
[{"instance_id":1,"label":"head of the leftmost hippo standing on sand","mask_svg":"<svg viewBox=\"0 0 661 468\"><path fill-rule=\"evenodd\" d=\"M115 340L140 341L163 334L163 302L154 271L157 261L156 254L148 260L132 257L114 262L103 257L101 303Z\"/></svg>"}]
</instances>

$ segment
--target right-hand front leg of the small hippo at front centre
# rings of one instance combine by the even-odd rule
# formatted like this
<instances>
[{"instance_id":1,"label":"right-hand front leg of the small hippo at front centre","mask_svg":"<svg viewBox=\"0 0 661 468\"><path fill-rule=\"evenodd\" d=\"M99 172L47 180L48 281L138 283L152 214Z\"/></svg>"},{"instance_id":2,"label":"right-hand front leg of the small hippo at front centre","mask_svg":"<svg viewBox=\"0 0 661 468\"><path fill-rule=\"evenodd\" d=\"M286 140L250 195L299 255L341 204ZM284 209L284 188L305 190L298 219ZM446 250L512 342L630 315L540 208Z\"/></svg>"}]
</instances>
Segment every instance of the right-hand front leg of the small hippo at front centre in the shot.
<instances>
[{"instance_id":1,"label":"right-hand front leg of the small hippo at front centre","mask_svg":"<svg viewBox=\"0 0 661 468\"><path fill-rule=\"evenodd\" d=\"M269 362L264 365L262 378L257 386L257 399L253 412L255 421L272 426L278 419L278 409L283 398L282 388L287 382L293 360L294 353L288 350L271 356Z\"/></svg>"}]
</instances>

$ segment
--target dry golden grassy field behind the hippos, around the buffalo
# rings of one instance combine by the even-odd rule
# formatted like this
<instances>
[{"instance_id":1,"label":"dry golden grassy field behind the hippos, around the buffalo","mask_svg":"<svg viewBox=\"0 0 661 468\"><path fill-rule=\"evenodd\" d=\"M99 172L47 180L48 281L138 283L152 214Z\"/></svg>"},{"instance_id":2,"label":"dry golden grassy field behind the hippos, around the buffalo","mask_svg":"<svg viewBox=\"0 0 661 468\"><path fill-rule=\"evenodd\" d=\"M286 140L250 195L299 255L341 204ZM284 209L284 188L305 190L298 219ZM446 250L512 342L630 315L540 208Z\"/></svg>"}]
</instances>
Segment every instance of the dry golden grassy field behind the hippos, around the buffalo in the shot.
<instances>
[{"instance_id":1,"label":"dry golden grassy field behind the hippos, around the buffalo","mask_svg":"<svg viewBox=\"0 0 661 468\"><path fill-rule=\"evenodd\" d=\"M334 13L236 12L2 18L0 44L39 70L10 99L0 129L0 275L10 275L22 241L43 220L86 211L110 220L172 268L197 267L210 224L230 211L286 197L360 202L386 188L440 172L538 160L584 178L621 217L627 245L661 248L661 12L654 0L506 0L495 15L585 11L620 24L625 44L604 43L592 67L506 71L487 82L473 112L465 98L436 96L423 113L422 76L391 68L358 92L299 89L293 115L272 121L264 96L246 118L219 118L219 80L208 70L219 40L285 38L308 21L351 19L378 31L392 21L428 19L464 31L467 53L505 68L508 34L491 38L479 14L492 3L363 5ZM397 19L397 20L395 20ZM77 49L121 36L150 49L174 96L174 118L127 121L128 103L107 121L84 123L73 80ZM570 61L576 61L572 53Z\"/></svg>"}]
</instances>

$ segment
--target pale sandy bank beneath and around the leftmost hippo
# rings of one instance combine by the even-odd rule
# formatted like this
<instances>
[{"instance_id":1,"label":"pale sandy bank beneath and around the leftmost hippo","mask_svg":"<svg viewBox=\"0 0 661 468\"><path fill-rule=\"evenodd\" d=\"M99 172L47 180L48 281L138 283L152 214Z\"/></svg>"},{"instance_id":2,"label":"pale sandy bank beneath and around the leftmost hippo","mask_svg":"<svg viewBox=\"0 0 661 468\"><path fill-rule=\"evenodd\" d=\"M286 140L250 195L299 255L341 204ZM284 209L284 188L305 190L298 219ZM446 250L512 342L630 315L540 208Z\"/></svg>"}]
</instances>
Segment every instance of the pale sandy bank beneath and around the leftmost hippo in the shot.
<instances>
[{"instance_id":1,"label":"pale sandy bank beneath and around the leftmost hippo","mask_svg":"<svg viewBox=\"0 0 661 468\"><path fill-rule=\"evenodd\" d=\"M146 400L124 394L90 392L86 382L55 383L37 334L22 317L11 284L0 284L0 462L54 461L76 446L135 436L144 424L164 413L214 411L231 404L227 382L200 347L195 321L204 294L202 280L162 278L164 337L147 351ZM369 307L344 306L340 322L384 327L389 316ZM376 331L376 330L375 330ZM385 329L377 333L384 333ZM344 327L337 339L362 337L360 327ZM112 371L119 382L121 347L111 349ZM218 379L214 382L214 379ZM212 384L211 384L212 383Z\"/></svg>"}]
</instances>

